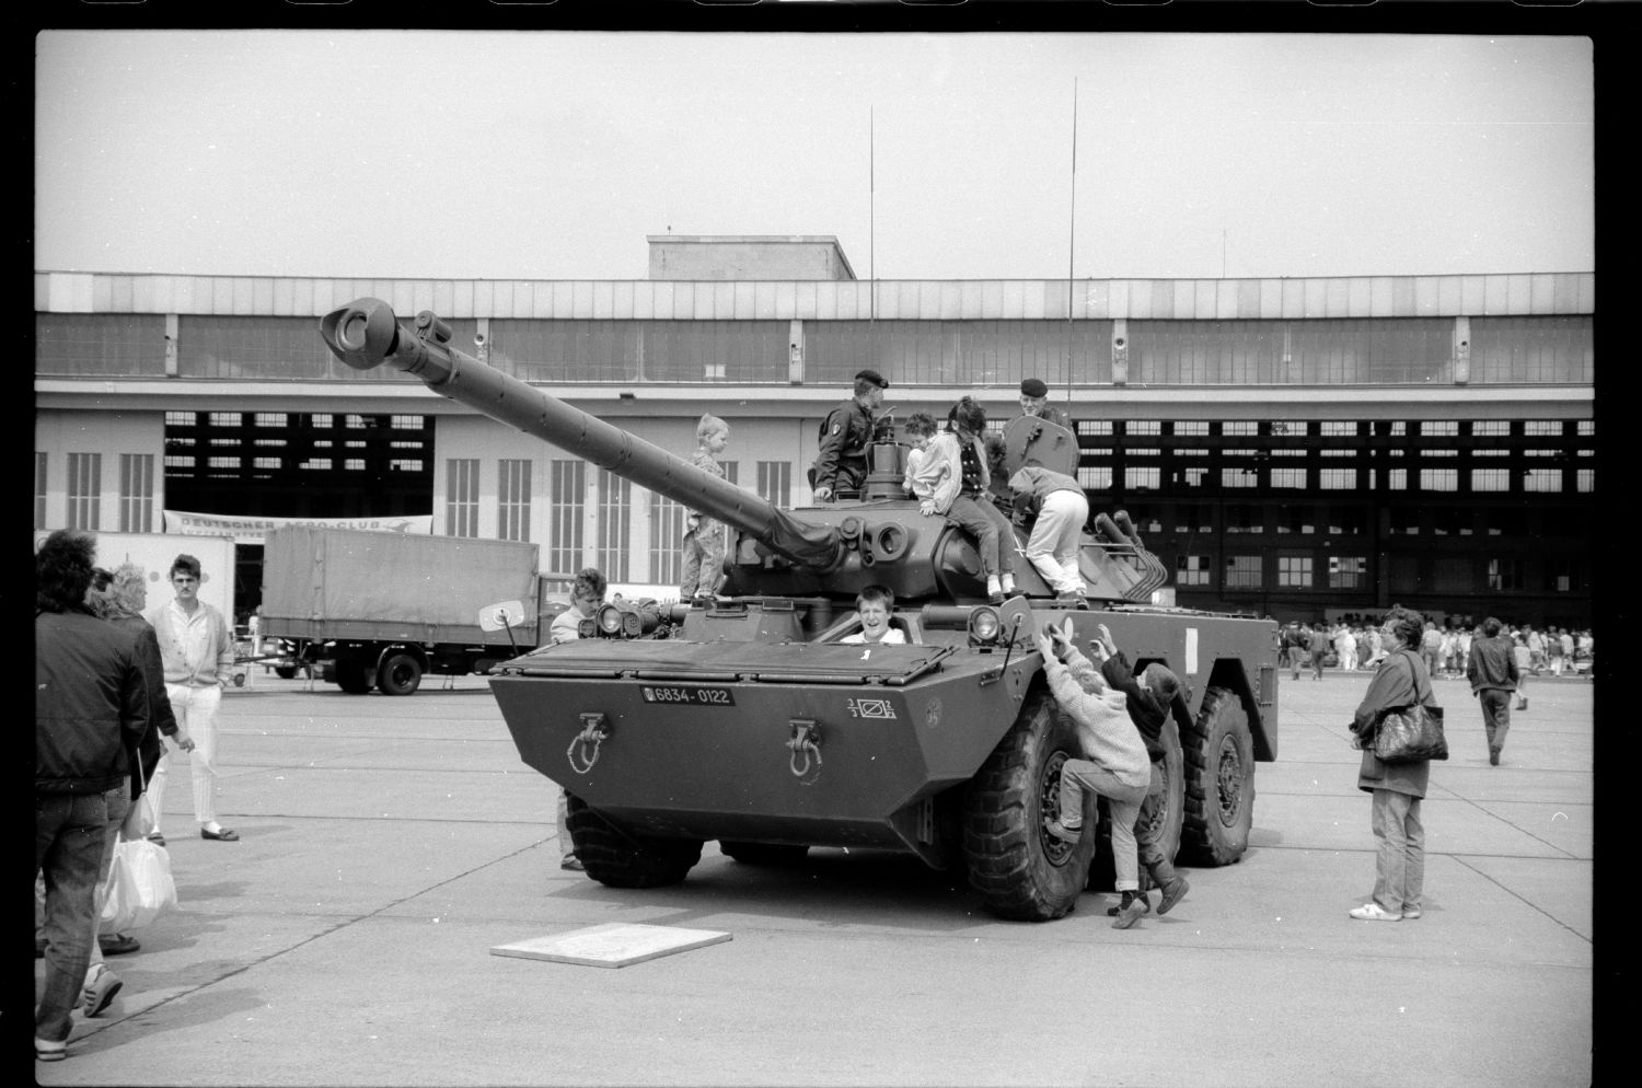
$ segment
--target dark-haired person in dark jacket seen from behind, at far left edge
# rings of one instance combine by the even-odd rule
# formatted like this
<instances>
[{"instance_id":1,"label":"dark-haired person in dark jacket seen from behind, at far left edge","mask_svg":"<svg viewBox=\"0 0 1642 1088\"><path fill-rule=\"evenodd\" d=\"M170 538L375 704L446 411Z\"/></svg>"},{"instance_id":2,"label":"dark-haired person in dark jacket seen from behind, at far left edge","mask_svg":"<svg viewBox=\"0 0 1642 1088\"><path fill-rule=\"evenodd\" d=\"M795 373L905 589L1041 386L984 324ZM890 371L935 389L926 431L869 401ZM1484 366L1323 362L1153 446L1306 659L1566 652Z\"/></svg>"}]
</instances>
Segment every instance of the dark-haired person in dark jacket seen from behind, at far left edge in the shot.
<instances>
[{"instance_id":1,"label":"dark-haired person in dark jacket seen from behind, at far left edge","mask_svg":"<svg viewBox=\"0 0 1642 1088\"><path fill-rule=\"evenodd\" d=\"M51 533L34 555L34 871L46 880L46 986L34 1057L67 1055L90 960L108 799L148 730L136 638L85 610L95 542Z\"/></svg>"}]
</instances>

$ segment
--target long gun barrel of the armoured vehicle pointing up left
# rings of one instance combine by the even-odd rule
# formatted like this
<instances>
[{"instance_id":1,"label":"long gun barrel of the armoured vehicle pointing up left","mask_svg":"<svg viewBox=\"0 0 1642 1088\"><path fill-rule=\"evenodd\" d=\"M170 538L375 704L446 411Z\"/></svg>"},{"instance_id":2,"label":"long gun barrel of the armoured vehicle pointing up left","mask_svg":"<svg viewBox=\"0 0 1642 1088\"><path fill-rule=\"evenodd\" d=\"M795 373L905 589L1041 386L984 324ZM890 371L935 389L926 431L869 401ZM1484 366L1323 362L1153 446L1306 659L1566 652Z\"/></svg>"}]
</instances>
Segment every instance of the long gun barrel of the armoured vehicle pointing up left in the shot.
<instances>
[{"instance_id":1,"label":"long gun barrel of the armoured vehicle pointing up left","mask_svg":"<svg viewBox=\"0 0 1642 1088\"><path fill-rule=\"evenodd\" d=\"M332 354L356 371L388 363L440 395L732 525L793 563L829 569L846 555L831 525L800 522L775 504L452 348L450 327L430 310L417 313L410 333L381 299L358 299L320 318L320 336Z\"/></svg>"}]
</instances>

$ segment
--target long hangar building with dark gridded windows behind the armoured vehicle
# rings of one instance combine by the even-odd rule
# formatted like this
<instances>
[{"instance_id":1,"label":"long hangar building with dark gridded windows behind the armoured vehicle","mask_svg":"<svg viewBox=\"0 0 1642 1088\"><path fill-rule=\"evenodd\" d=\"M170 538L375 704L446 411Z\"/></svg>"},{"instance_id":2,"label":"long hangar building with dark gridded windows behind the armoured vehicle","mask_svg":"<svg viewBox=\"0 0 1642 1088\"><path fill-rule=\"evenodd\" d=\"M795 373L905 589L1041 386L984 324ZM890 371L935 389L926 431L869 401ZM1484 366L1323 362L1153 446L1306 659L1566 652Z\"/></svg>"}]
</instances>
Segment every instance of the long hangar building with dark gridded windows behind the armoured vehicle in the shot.
<instances>
[{"instance_id":1,"label":"long hangar building with dark gridded windows behind the armoured vehicle","mask_svg":"<svg viewBox=\"0 0 1642 1088\"><path fill-rule=\"evenodd\" d=\"M1179 606L1591 622L1594 272L860 281L831 236L649 243L634 281L36 271L34 528L238 523L241 614L256 519L415 517L677 584L675 502L333 359L319 318L374 295L680 456L726 418L731 479L780 505L862 368L900 420L969 394L1007 422L1041 377Z\"/></svg>"}]
</instances>

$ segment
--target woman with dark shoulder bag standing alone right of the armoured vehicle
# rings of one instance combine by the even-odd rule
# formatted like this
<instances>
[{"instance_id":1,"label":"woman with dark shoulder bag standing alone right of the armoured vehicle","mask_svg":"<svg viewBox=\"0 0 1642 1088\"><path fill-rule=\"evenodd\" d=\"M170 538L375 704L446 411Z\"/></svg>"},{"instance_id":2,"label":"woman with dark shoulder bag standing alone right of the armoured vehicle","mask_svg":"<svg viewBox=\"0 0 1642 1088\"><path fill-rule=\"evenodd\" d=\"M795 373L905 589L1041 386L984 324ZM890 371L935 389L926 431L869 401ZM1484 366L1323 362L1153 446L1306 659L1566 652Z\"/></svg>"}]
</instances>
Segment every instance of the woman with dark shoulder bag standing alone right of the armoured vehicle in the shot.
<instances>
[{"instance_id":1,"label":"woman with dark shoulder bag standing alone right of the armoured vehicle","mask_svg":"<svg viewBox=\"0 0 1642 1088\"><path fill-rule=\"evenodd\" d=\"M1401 922L1422 912L1425 829L1420 825L1420 798L1430 783L1430 760L1386 763L1374 755L1374 732L1384 711L1437 702L1430 671L1414 650L1424 625L1425 619L1410 609L1386 612L1379 629L1386 660L1379 663L1351 720L1356 745L1363 748L1356 786L1373 794L1371 824L1378 845L1374 899L1351 909L1351 917L1365 922Z\"/></svg>"}]
</instances>

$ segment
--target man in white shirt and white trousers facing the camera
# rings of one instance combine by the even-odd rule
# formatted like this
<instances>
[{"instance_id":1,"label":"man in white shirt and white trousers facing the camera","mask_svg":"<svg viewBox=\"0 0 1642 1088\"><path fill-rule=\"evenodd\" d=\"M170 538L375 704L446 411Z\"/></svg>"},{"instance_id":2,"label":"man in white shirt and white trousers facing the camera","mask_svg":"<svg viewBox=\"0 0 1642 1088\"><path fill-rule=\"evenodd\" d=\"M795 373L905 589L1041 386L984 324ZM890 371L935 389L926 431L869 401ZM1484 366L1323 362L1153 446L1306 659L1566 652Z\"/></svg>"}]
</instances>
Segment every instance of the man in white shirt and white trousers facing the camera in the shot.
<instances>
[{"instance_id":1,"label":"man in white shirt and white trousers facing the camera","mask_svg":"<svg viewBox=\"0 0 1642 1088\"><path fill-rule=\"evenodd\" d=\"M200 839L238 842L236 832L217 822L217 709L233 674L233 635L222 612L200 601L200 561L192 555L179 555L171 565L171 589L176 597L151 612L148 622L159 637L171 709L177 715L177 725L194 738L189 757L194 771L194 819L199 821ZM156 835L169 761L169 755L163 758L148 783Z\"/></svg>"}]
</instances>

